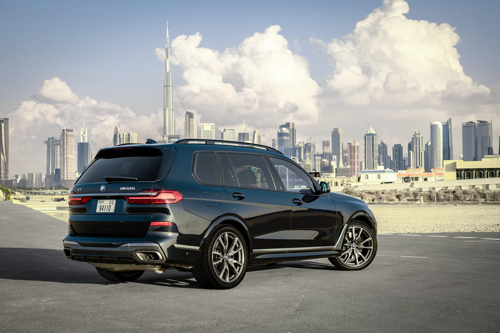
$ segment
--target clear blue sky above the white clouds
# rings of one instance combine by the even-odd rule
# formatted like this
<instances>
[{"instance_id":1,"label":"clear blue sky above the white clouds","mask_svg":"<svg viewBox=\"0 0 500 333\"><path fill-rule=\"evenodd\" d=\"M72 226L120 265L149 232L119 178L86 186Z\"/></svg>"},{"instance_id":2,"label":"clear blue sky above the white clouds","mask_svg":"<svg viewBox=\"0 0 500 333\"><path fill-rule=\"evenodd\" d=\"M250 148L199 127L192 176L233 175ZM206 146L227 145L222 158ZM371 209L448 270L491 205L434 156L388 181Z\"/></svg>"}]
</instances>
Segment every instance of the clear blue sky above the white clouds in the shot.
<instances>
[{"instance_id":1,"label":"clear blue sky above the white clouds","mask_svg":"<svg viewBox=\"0 0 500 333\"><path fill-rule=\"evenodd\" d=\"M161 107L165 21L170 38L200 32L200 46L236 46L269 25L307 57L316 81L330 71L309 37L350 32L380 0L364 1L1 1L0 114L15 109L44 79L58 76L80 96L125 105L137 113ZM465 74L500 83L500 1L409 0L408 18L456 27ZM172 68L174 86L180 70ZM100 83L96 85L95 83Z\"/></svg>"}]
</instances>

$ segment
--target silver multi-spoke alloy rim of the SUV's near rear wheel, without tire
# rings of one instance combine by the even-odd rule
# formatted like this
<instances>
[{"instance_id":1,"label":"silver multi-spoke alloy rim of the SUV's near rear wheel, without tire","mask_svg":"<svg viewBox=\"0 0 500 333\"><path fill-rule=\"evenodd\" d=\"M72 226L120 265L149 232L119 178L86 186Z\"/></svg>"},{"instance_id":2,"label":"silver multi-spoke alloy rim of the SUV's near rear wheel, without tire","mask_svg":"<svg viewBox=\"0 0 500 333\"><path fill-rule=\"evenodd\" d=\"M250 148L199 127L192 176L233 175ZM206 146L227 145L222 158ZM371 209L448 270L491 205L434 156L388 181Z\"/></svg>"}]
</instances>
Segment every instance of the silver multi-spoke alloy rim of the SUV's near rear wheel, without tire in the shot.
<instances>
[{"instance_id":1,"label":"silver multi-spoke alloy rim of the SUV's near rear wheel, without tire","mask_svg":"<svg viewBox=\"0 0 500 333\"><path fill-rule=\"evenodd\" d=\"M223 282L232 282L243 271L245 253L239 237L232 232L221 233L213 242L211 264L217 277Z\"/></svg>"}]
</instances>

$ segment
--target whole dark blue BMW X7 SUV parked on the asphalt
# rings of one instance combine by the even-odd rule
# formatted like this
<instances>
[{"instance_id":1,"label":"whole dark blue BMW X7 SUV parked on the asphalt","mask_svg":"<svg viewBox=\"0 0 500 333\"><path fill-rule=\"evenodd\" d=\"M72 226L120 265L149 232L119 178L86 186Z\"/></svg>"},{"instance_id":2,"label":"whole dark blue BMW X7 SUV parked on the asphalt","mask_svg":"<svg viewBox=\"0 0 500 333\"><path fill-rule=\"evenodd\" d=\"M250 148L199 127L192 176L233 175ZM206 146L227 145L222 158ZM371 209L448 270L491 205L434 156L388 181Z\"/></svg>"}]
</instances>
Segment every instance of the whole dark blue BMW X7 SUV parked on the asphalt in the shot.
<instances>
[{"instance_id":1,"label":"whole dark blue BMW X7 SUV parked on the asphalt","mask_svg":"<svg viewBox=\"0 0 500 333\"><path fill-rule=\"evenodd\" d=\"M145 270L192 269L210 288L232 288L248 265L328 258L368 266L377 250L368 205L330 192L278 150L182 139L104 148L68 198L67 258L112 281Z\"/></svg>"}]
</instances>

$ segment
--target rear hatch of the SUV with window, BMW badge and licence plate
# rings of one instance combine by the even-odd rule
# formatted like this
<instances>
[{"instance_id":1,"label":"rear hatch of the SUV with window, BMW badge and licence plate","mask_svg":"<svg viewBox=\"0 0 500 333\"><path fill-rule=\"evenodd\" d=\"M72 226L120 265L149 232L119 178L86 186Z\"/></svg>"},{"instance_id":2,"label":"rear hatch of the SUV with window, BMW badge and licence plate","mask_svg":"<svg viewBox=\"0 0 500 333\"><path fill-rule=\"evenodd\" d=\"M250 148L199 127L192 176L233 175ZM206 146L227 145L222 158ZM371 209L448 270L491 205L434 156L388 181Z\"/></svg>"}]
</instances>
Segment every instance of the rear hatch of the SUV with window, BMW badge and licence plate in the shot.
<instances>
[{"instance_id":1,"label":"rear hatch of the SUV with window, BMW badge and licence plate","mask_svg":"<svg viewBox=\"0 0 500 333\"><path fill-rule=\"evenodd\" d=\"M171 147L170 147L171 146ZM143 237L152 204L130 203L166 177L175 156L172 145L124 146L99 150L71 189L71 235Z\"/></svg>"}]
</instances>

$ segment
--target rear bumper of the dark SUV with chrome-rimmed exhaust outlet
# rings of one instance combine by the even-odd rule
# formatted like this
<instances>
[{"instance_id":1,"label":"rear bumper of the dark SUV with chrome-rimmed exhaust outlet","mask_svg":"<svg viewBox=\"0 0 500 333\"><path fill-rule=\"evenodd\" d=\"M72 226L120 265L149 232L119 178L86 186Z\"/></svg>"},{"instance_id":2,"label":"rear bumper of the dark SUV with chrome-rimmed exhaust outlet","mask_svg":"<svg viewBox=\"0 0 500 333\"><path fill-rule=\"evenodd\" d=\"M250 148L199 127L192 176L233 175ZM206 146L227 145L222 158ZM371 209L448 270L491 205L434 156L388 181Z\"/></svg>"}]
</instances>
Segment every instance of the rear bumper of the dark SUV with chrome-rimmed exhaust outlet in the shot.
<instances>
[{"instance_id":1,"label":"rear bumper of the dark SUV with chrome-rimmed exhaust outlet","mask_svg":"<svg viewBox=\"0 0 500 333\"><path fill-rule=\"evenodd\" d=\"M113 264L153 264L190 267L197 264L200 251L195 246L177 244L175 232L142 238L74 237L63 239L64 255L71 260Z\"/></svg>"}]
</instances>

